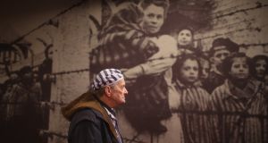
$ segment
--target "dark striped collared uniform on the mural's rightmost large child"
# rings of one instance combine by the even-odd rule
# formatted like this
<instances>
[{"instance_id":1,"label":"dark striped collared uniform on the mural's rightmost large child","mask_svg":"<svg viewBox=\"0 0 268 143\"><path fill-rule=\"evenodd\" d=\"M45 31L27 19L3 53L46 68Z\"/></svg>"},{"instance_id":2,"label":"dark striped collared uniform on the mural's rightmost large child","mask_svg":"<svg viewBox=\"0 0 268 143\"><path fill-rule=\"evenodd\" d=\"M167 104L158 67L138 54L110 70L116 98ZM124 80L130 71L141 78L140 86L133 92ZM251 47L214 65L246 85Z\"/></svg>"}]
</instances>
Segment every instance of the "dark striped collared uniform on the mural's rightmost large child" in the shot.
<instances>
[{"instance_id":1,"label":"dark striped collared uniform on the mural's rightmost large child","mask_svg":"<svg viewBox=\"0 0 268 143\"><path fill-rule=\"evenodd\" d=\"M259 82L249 80L242 90L225 80L214 89L210 106L217 142L267 142L267 101L260 86Z\"/></svg>"}]
</instances>

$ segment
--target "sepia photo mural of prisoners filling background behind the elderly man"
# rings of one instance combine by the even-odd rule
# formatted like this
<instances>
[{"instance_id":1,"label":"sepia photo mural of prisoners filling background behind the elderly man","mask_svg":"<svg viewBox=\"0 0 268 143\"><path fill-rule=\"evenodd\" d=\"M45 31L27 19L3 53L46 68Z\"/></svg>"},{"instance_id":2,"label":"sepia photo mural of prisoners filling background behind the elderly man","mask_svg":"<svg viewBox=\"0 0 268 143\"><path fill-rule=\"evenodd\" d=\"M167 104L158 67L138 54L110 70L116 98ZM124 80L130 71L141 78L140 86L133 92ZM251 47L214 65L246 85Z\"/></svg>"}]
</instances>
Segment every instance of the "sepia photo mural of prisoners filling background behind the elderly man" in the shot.
<instances>
[{"instance_id":1,"label":"sepia photo mural of prisoners filling background behind the elderly man","mask_svg":"<svg viewBox=\"0 0 268 143\"><path fill-rule=\"evenodd\" d=\"M129 92L116 109L125 143L268 142L267 1L30 5L0 24L4 142L66 143L62 107L106 68Z\"/></svg>"}]
</instances>

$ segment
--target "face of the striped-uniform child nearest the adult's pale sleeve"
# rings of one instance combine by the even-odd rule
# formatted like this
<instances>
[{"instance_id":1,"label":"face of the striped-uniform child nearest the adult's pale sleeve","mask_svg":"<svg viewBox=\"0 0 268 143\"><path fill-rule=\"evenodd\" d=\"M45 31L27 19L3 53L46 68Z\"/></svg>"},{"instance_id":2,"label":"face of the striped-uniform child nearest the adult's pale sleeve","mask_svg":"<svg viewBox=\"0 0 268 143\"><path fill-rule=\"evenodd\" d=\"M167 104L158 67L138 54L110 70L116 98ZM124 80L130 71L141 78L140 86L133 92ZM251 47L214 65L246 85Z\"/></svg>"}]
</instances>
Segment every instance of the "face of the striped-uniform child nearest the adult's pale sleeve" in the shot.
<instances>
[{"instance_id":1,"label":"face of the striped-uniform child nearest the adult's pale sleeve","mask_svg":"<svg viewBox=\"0 0 268 143\"><path fill-rule=\"evenodd\" d=\"M180 69L181 80L187 84L193 84L198 79L198 69L197 60L187 59Z\"/></svg>"}]
</instances>

